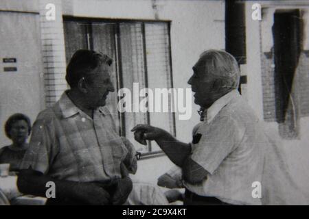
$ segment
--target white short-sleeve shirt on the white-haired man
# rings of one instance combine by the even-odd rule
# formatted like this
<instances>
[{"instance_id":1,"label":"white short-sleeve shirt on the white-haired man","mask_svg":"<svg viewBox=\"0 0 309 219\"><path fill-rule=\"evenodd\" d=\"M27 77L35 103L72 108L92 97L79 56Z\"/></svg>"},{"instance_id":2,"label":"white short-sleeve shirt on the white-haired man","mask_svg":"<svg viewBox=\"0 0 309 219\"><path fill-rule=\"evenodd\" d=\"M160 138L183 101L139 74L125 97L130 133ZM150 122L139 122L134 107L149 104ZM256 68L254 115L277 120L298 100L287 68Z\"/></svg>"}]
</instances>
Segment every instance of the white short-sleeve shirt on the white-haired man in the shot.
<instances>
[{"instance_id":1,"label":"white short-sleeve shirt on the white-haired man","mask_svg":"<svg viewBox=\"0 0 309 219\"><path fill-rule=\"evenodd\" d=\"M268 144L257 116L237 90L222 96L207 110L207 118L194 127L192 159L209 175L199 185L184 182L200 196L214 196L236 205L261 205L253 197L253 182L262 181L263 147Z\"/></svg>"}]
</instances>

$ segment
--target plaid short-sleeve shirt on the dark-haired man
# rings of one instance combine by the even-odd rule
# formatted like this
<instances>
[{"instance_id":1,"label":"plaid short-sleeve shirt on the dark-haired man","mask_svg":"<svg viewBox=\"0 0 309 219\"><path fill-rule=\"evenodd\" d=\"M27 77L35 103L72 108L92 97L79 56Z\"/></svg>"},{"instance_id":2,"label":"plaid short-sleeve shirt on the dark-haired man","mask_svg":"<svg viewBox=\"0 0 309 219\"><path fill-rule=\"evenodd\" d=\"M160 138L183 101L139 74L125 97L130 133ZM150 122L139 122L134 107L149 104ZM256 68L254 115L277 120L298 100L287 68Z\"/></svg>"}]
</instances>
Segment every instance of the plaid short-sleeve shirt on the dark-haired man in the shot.
<instances>
[{"instance_id":1,"label":"plaid short-sleeve shirt on the dark-haired man","mask_svg":"<svg viewBox=\"0 0 309 219\"><path fill-rule=\"evenodd\" d=\"M117 134L106 107L95 110L92 119L65 92L38 114L32 130L21 169L32 166L56 179L106 183L122 177L121 164L136 171L135 150Z\"/></svg>"}]
</instances>

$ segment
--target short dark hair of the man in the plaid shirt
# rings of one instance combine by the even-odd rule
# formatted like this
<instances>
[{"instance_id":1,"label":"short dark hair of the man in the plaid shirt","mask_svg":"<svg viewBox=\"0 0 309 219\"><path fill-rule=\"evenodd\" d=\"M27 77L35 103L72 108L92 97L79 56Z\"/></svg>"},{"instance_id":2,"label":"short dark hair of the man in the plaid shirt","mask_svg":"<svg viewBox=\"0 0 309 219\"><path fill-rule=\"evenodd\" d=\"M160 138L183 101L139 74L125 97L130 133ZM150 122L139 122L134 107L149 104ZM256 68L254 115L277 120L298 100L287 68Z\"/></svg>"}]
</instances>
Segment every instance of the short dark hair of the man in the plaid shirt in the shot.
<instances>
[{"instance_id":1,"label":"short dark hair of the man in the plaid shirt","mask_svg":"<svg viewBox=\"0 0 309 219\"><path fill-rule=\"evenodd\" d=\"M111 66L112 62L113 60L108 55L87 49L80 49L71 57L67 65L65 79L71 88L77 87L78 81L82 77L87 77L95 68L98 68L102 64Z\"/></svg>"}]
</instances>

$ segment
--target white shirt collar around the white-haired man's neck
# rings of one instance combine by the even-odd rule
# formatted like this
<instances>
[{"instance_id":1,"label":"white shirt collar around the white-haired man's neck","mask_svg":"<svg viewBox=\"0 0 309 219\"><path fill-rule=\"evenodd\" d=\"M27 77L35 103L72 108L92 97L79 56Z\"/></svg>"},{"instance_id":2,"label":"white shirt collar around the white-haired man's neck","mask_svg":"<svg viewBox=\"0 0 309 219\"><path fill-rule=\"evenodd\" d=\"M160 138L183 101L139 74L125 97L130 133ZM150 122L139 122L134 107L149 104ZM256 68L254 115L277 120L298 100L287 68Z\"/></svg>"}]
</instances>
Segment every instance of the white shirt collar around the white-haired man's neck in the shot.
<instances>
[{"instance_id":1,"label":"white shirt collar around the white-haired man's neck","mask_svg":"<svg viewBox=\"0 0 309 219\"><path fill-rule=\"evenodd\" d=\"M207 116L207 123L211 123L211 121L220 112L220 110L222 110L222 108L225 107L227 103L229 103L229 101L231 101L231 99L233 99L233 97L237 95L240 95L238 90L232 90L224 96L221 96L207 110L205 110L205 116Z\"/></svg>"}]
</instances>

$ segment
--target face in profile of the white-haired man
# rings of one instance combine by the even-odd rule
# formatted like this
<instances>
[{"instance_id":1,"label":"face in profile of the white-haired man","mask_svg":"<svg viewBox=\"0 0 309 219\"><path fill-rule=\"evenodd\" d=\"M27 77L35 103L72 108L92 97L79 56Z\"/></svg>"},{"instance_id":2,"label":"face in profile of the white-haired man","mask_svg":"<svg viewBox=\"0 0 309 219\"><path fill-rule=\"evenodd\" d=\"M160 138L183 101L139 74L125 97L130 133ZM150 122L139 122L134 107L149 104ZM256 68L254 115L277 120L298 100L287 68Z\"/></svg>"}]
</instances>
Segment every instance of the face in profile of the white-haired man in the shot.
<instances>
[{"instance_id":1,"label":"face in profile of the white-haired man","mask_svg":"<svg viewBox=\"0 0 309 219\"><path fill-rule=\"evenodd\" d=\"M198 60L192 68L193 75L190 77L189 83L194 92L194 103L201 107L208 108L214 102L214 77L207 73L205 64Z\"/></svg>"}]
</instances>

